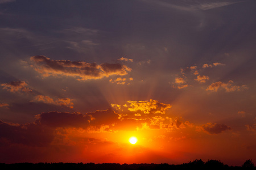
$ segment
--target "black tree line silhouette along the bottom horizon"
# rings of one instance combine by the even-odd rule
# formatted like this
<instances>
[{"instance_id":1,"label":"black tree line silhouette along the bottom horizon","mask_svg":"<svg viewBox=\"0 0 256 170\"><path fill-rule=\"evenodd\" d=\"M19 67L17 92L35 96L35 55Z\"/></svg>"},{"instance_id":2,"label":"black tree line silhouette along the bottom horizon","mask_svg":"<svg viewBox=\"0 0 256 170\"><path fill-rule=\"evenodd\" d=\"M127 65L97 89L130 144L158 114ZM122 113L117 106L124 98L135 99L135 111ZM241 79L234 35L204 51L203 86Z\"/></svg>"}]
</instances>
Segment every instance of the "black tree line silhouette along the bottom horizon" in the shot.
<instances>
[{"instance_id":1,"label":"black tree line silhouette along the bottom horizon","mask_svg":"<svg viewBox=\"0 0 256 170\"><path fill-rule=\"evenodd\" d=\"M219 160L208 160L207 162L203 162L201 159L196 159L193 162L183 163L183 164L117 164L117 163L102 163L102 164L94 164L94 163L15 163L15 164L6 164L0 163L0 169L84 169L84 170L170 170L170 169L188 169L188 168L196 168L196 169L256 169L254 167L251 159L246 160L241 166L229 166L226 165Z\"/></svg>"}]
</instances>

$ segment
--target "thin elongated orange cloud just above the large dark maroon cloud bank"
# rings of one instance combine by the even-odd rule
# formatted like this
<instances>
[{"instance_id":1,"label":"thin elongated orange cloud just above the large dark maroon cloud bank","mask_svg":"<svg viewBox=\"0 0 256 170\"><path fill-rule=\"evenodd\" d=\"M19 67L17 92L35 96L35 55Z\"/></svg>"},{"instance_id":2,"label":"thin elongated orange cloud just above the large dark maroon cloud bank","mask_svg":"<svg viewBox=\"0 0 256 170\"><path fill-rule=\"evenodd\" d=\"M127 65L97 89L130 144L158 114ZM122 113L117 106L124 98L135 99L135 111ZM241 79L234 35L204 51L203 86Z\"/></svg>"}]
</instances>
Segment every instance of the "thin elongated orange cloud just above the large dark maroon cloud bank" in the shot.
<instances>
[{"instance_id":1,"label":"thin elongated orange cloud just above the large dark maroon cloud bank","mask_svg":"<svg viewBox=\"0 0 256 170\"><path fill-rule=\"evenodd\" d=\"M32 100L34 102L43 102L46 104L53 104L53 105L60 105L60 106L65 106L68 108L73 108L73 103L71 102L71 99L69 98L58 98L58 99L52 99L49 96L43 96L43 95L38 95L35 96L35 99Z\"/></svg>"}]
</instances>

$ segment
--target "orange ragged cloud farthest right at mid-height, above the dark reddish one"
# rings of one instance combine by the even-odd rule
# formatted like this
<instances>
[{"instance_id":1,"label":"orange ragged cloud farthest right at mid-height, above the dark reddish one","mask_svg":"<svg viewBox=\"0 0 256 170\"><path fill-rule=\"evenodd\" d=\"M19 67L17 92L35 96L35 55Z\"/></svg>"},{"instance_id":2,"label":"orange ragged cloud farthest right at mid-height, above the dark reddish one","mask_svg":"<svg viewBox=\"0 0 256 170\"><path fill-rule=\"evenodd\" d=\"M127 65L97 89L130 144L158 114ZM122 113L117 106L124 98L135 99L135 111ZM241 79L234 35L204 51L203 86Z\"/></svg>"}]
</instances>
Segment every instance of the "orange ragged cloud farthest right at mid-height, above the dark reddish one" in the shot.
<instances>
[{"instance_id":1,"label":"orange ragged cloud farthest right at mid-height, above the dark reddish one","mask_svg":"<svg viewBox=\"0 0 256 170\"><path fill-rule=\"evenodd\" d=\"M210 86L207 87L207 91L214 91L217 92L219 89L225 89L226 92L232 92L232 91L240 91L243 89L247 89L246 85L240 86L232 86L234 82L232 80L229 80L228 83L222 83L222 82L215 82L210 84Z\"/></svg>"}]
</instances>

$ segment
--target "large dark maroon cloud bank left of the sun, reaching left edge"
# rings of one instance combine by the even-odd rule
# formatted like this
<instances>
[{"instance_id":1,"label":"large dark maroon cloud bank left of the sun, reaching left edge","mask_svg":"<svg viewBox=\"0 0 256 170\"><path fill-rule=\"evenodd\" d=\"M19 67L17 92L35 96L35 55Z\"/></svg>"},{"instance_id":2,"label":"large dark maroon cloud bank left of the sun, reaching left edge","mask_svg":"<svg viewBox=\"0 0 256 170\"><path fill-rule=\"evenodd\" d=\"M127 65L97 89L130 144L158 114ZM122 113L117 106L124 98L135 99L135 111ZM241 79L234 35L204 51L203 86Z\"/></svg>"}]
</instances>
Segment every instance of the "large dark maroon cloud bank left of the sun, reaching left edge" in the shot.
<instances>
[{"instance_id":1,"label":"large dark maroon cloud bank left of the sun, reaching left edge","mask_svg":"<svg viewBox=\"0 0 256 170\"><path fill-rule=\"evenodd\" d=\"M43 112L36 115L36 121L28 124L11 124L0 121L1 145L22 144L26 146L49 146L52 142L60 144L68 131L87 129L91 116L82 113ZM76 130L71 130L75 128ZM59 137L63 136L63 137ZM69 145L71 141L67 141Z\"/></svg>"}]
</instances>

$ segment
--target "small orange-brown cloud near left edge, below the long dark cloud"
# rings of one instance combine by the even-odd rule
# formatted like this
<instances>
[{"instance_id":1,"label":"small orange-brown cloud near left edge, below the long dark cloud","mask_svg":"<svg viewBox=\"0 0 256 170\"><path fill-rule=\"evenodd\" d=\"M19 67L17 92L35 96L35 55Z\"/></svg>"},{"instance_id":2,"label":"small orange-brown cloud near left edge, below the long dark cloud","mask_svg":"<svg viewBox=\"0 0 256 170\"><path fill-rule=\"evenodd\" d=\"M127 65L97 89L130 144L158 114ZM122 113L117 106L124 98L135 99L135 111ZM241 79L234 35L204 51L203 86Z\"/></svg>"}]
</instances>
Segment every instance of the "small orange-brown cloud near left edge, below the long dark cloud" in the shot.
<instances>
[{"instance_id":1,"label":"small orange-brown cloud near left edge, below the long dark cloud","mask_svg":"<svg viewBox=\"0 0 256 170\"><path fill-rule=\"evenodd\" d=\"M16 81L16 82L10 82L10 83L3 83L1 84L3 86L3 89L6 89L10 92L28 92L31 93L31 88L28 87L28 84L23 81Z\"/></svg>"}]
</instances>

